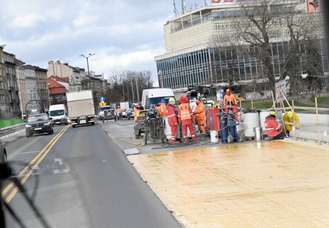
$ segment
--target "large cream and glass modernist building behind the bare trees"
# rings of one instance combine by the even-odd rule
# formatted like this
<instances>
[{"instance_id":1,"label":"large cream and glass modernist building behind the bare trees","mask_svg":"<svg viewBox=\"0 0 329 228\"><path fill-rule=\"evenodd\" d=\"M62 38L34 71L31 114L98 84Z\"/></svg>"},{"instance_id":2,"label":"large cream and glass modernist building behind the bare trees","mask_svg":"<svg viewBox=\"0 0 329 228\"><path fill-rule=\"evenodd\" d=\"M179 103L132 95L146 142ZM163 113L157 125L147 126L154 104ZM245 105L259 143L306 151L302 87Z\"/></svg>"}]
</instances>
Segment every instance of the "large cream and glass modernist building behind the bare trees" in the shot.
<instances>
[{"instance_id":1,"label":"large cream and glass modernist building behind the bare trees","mask_svg":"<svg viewBox=\"0 0 329 228\"><path fill-rule=\"evenodd\" d=\"M295 12L295 19L308 18L312 20L313 26L320 25L319 34L323 33L323 19L321 12L308 13L307 2L295 1L294 5L280 4L271 6L272 11L280 12L285 7L298 7ZM243 23L245 18L242 8L234 5L213 5L205 6L188 13L180 14L170 19L163 26L166 54L156 56L158 81L160 87L180 89L191 85L214 84L228 86L230 83L230 68L234 68L234 81L248 83L254 79L267 80L264 66L260 59L246 55L248 52L255 52L254 47L242 44L243 53L234 56L234 66L227 63L223 55L218 55L218 49L226 52L226 57L232 58L230 50L231 37L236 28ZM280 13L278 13L280 15ZM269 45L272 56L271 65L273 74L277 77L282 72L282 64L285 61L285 52L288 50L289 34L282 26L279 19L274 18L270 23L273 31ZM321 26L322 25L322 26ZM255 29L256 31L256 29ZM215 46L213 40L216 40ZM240 43L241 45L241 43ZM319 49L322 59L323 71L329 71L326 43L323 37L319 37ZM302 74L303 61L299 59Z\"/></svg>"}]
</instances>

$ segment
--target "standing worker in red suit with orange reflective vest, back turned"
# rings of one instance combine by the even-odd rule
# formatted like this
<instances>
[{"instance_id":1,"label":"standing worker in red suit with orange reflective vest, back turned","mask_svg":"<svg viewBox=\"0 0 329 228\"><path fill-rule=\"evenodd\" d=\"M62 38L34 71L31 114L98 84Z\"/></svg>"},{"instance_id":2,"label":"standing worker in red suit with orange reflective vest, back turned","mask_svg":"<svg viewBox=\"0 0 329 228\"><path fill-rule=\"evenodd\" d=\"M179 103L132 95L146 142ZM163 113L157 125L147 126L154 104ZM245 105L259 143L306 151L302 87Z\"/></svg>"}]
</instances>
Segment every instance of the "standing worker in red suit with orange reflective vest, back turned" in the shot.
<instances>
[{"instance_id":1,"label":"standing worker in red suit with orange reflective vest, back turned","mask_svg":"<svg viewBox=\"0 0 329 228\"><path fill-rule=\"evenodd\" d=\"M195 132L193 128L194 115L191 107L189 106L189 100L186 96L180 97L180 105L178 106L178 121L183 126L184 142L186 143L188 141L187 128L190 129L192 141L195 141Z\"/></svg>"}]
</instances>

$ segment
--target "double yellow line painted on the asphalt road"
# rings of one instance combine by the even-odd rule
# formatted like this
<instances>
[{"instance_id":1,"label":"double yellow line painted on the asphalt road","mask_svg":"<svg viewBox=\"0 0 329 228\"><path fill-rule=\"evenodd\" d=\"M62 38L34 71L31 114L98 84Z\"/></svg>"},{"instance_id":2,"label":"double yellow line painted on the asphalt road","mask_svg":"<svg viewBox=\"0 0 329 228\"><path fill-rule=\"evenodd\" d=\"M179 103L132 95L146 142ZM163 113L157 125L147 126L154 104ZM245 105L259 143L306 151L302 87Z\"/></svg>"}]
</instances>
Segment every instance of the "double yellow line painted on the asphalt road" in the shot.
<instances>
[{"instance_id":1,"label":"double yellow line painted on the asphalt road","mask_svg":"<svg viewBox=\"0 0 329 228\"><path fill-rule=\"evenodd\" d=\"M51 139L51 141L40 151L40 153L38 155L36 155L33 160L30 161L30 163L28 165L26 165L26 167L23 169L23 171L17 175L17 178L20 178L21 176L24 175L24 173L32 166L32 164L38 160L38 158L41 156L41 158L35 162L34 165L39 165L40 162L45 158L45 156L48 154L48 152L51 150L51 148L53 147L53 145L58 141L58 139L64 134L64 132L70 127L70 125L66 126L65 128L63 128L60 133L58 133L55 137L53 137L53 139ZM48 148L48 149L47 149ZM46 151L46 152L45 152ZM44 153L45 152L45 153ZM30 175L32 174L33 169L31 169L27 175L25 175L25 177L22 179L21 183L24 184L25 181L30 177ZM7 192L12 188L12 186L14 185L14 182L11 181L8 186L4 189L4 191L1 193L2 196L5 196L7 194ZM10 195L6 198L6 202L9 203L10 200L14 197L14 195L17 193L18 188L16 187L11 193Z\"/></svg>"}]
</instances>

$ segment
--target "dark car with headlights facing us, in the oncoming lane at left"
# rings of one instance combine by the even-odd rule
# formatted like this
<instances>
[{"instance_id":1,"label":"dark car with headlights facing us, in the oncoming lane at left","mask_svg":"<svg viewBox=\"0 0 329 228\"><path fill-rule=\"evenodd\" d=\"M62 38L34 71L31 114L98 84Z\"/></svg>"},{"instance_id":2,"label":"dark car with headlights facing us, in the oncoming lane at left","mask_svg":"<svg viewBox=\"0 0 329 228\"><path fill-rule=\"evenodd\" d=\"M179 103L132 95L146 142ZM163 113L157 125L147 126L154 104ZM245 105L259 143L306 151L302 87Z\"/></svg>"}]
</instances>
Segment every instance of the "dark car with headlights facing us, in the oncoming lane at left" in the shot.
<instances>
[{"instance_id":1,"label":"dark car with headlights facing us, in the oncoming lane at left","mask_svg":"<svg viewBox=\"0 0 329 228\"><path fill-rule=\"evenodd\" d=\"M46 113L30 115L25 126L26 137L40 133L51 135L53 133L51 119Z\"/></svg>"}]
</instances>

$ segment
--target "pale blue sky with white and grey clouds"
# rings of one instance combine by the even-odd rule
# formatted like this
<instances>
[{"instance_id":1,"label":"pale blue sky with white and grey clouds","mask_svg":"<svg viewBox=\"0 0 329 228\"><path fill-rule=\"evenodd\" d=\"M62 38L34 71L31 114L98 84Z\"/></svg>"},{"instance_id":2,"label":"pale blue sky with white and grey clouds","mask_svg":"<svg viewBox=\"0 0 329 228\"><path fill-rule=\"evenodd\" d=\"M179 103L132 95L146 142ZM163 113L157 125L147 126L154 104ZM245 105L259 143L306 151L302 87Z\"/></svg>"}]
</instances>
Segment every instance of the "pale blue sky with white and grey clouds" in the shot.
<instances>
[{"instance_id":1,"label":"pale blue sky with white and grey clouds","mask_svg":"<svg viewBox=\"0 0 329 228\"><path fill-rule=\"evenodd\" d=\"M207 0L210 3L211 0ZM181 0L176 0L181 12ZM205 0L186 0L186 9ZM10 0L1 4L0 45L32 66L61 60L72 67L104 73L150 70L165 53L163 25L175 16L172 0Z\"/></svg>"}]
</instances>

